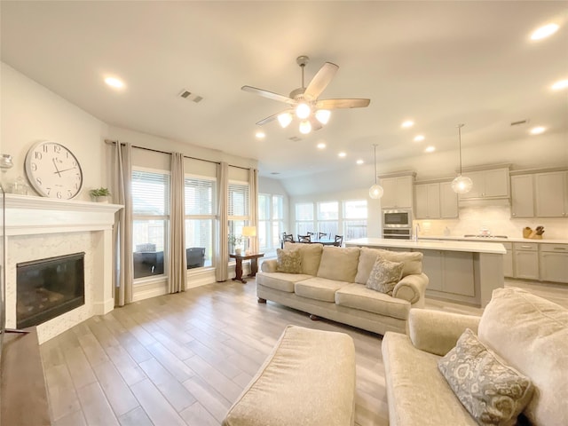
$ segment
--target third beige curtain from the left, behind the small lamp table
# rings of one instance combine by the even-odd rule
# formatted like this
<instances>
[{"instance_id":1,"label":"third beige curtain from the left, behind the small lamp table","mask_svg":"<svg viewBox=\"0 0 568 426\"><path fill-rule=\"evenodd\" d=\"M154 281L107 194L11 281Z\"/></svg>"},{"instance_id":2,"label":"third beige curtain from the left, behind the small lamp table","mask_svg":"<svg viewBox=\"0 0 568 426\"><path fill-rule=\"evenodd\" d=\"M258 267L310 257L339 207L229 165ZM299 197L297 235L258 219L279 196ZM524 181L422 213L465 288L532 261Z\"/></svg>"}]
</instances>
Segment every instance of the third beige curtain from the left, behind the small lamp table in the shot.
<instances>
[{"instance_id":1,"label":"third beige curtain from the left, behind the small lamp table","mask_svg":"<svg viewBox=\"0 0 568 426\"><path fill-rule=\"evenodd\" d=\"M229 278L229 165L217 165L217 235L215 248L215 279L226 281Z\"/></svg>"}]
</instances>

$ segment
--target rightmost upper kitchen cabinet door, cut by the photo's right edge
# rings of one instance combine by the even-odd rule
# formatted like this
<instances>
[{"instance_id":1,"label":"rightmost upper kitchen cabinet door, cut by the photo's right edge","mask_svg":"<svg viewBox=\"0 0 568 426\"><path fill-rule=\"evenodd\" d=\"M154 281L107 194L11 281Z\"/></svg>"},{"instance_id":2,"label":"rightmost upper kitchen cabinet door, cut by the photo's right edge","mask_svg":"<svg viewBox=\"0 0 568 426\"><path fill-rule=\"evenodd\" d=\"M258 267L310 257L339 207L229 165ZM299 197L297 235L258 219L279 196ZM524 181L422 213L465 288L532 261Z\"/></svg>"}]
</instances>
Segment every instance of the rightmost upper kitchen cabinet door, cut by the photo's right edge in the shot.
<instances>
[{"instance_id":1,"label":"rightmost upper kitchen cabinet door, cut by the photo's right edge","mask_svg":"<svg viewBox=\"0 0 568 426\"><path fill-rule=\"evenodd\" d=\"M537 217L568 217L568 171L536 173L534 199Z\"/></svg>"}]
</instances>

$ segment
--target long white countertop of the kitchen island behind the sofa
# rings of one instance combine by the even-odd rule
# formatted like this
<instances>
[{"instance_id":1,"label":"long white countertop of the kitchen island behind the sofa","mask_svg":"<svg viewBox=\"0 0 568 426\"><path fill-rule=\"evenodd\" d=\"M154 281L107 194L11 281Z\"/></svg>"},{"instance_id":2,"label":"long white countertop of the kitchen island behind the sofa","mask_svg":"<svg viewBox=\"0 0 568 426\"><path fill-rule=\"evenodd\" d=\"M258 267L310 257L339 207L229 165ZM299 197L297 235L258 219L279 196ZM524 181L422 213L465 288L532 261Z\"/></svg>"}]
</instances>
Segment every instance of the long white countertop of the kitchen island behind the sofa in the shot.
<instances>
[{"instance_id":1,"label":"long white countertop of the kitchen island behind the sofa","mask_svg":"<svg viewBox=\"0 0 568 426\"><path fill-rule=\"evenodd\" d=\"M345 241L345 247L392 247L414 250L466 251L470 253L492 253L504 255L505 247L497 242L480 241L432 241L432 240L394 240L388 238L358 238Z\"/></svg>"}]
</instances>

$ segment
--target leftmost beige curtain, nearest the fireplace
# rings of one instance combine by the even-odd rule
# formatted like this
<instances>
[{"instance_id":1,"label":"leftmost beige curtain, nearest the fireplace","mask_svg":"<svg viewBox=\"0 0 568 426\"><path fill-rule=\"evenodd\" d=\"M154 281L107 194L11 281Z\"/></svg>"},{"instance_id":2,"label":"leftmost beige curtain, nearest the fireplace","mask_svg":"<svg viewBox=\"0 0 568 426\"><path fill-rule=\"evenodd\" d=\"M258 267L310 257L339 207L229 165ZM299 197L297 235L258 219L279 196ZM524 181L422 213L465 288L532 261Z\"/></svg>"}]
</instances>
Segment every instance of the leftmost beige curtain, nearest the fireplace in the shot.
<instances>
[{"instance_id":1,"label":"leftmost beige curtain, nearest the fireplace","mask_svg":"<svg viewBox=\"0 0 568 426\"><path fill-rule=\"evenodd\" d=\"M134 266L132 259L132 165L130 144L114 144L113 153L113 202L124 207L114 219L114 305L124 306L132 302L132 280Z\"/></svg>"}]
</instances>

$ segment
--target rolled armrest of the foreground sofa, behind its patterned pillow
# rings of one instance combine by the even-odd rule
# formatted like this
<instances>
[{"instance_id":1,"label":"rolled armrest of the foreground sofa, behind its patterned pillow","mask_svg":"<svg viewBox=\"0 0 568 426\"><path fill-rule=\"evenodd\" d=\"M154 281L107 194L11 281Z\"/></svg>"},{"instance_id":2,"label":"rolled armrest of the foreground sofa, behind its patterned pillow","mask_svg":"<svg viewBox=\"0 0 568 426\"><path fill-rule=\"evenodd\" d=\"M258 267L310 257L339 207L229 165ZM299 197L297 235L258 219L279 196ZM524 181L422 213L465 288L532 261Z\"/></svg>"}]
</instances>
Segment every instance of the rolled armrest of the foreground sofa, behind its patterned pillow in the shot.
<instances>
[{"instance_id":1,"label":"rolled armrest of the foreground sofa, behind its patterned pillow","mask_svg":"<svg viewBox=\"0 0 568 426\"><path fill-rule=\"evenodd\" d=\"M411 309L407 334L415 348L444 356L454 348L466 328L477 333L479 319L476 315Z\"/></svg>"}]
</instances>

